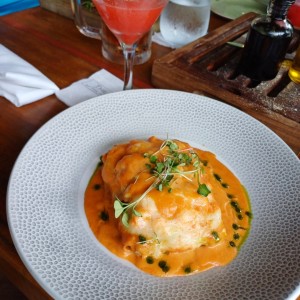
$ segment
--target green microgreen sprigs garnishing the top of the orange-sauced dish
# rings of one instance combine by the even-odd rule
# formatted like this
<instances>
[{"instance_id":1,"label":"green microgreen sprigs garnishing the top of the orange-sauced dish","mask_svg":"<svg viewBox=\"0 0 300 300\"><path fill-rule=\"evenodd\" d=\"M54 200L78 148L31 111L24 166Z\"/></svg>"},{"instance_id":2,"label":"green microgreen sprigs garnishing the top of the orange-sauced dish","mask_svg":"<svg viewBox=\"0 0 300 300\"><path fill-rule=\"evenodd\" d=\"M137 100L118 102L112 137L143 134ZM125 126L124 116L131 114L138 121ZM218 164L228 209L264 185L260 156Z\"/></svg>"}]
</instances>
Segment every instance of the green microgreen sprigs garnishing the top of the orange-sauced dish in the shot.
<instances>
[{"instance_id":1,"label":"green microgreen sprigs garnishing the top of the orange-sauced dish","mask_svg":"<svg viewBox=\"0 0 300 300\"><path fill-rule=\"evenodd\" d=\"M115 217L121 217L122 223L126 227L128 227L128 222L132 214L138 217L142 216L136 210L136 206L152 189L162 192L166 187L169 193L172 192L171 185L175 177L180 176L192 181L189 176L194 174L198 180L197 192L205 197L211 192L205 184L200 183L199 177L204 173L203 162L200 160L198 154L194 152L193 148L180 149L176 142L167 139L162 143L157 152L152 154L144 153L143 156L149 159L145 167L146 171L152 175L150 178L155 179L154 182L133 202L126 203L121 201L117 196L115 197Z\"/></svg>"}]
</instances>

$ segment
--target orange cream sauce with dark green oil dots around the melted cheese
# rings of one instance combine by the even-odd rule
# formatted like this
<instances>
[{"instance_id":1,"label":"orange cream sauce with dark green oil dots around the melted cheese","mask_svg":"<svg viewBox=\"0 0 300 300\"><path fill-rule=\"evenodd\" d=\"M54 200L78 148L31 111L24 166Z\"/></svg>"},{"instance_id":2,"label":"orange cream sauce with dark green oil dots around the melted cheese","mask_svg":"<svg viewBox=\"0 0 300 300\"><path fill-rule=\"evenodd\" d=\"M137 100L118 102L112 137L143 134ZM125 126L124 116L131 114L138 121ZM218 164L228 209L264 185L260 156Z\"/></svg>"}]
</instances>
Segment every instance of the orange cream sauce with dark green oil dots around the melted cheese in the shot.
<instances>
[{"instance_id":1,"label":"orange cream sauce with dark green oil dots around the melted cheese","mask_svg":"<svg viewBox=\"0 0 300 300\"><path fill-rule=\"evenodd\" d=\"M191 149L186 143L175 142L180 149ZM153 238L149 241L149 237L141 239L139 234L133 234L130 230L131 226L137 226L141 217L132 216L129 228L122 224L120 218L115 218L115 196L131 202L153 184L153 176L145 171L149 158L144 154L158 153L162 143L155 137L148 141L131 141L113 147L103 156L103 165L96 169L85 192L84 207L91 230L112 253L156 276L195 274L228 264L236 257L239 246L247 236L251 219L250 203L237 177L211 152L193 149L201 160L200 181L209 188L209 196L197 193L198 180L191 182L182 176L176 179L174 176L172 191L169 188L161 191L152 189L147 194L166 222L176 219L185 210L204 215L214 210L221 211L222 222L199 247L178 245L177 249L164 249L155 254L155 249L161 246L159 241ZM136 210L144 216L147 213L145 207L137 205ZM189 232L187 230L187 234Z\"/></svg>"}]
</instances>

